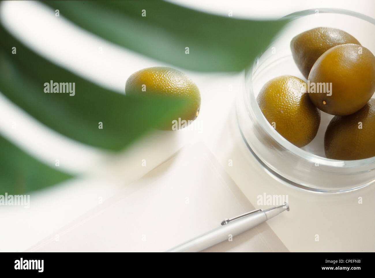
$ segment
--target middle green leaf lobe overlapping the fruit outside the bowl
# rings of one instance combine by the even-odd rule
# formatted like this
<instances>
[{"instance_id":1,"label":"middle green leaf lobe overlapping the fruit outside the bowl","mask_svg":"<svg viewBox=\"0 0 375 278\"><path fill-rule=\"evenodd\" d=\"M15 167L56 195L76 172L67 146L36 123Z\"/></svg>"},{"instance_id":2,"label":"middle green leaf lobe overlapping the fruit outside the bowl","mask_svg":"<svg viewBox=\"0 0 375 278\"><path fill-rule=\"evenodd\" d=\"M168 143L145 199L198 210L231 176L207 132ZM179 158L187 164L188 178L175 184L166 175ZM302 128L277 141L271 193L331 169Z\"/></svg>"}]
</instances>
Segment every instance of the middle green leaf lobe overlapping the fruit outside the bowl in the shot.
<instances>
[{"instance_id":1,"label":"middle green leaf lobe overlapping the fruit outside the bowl","mask_svg":"<svg viewBox=\"0 0 375 278\"><path fill-rule=\"evenodd\" d=\"M12 54L16 47L17 54ZM124 76L124 84L127 76ZM75 83L75 96L44 84ZM50 89L52 91L52 88ZM187 99L130 97L105 90L40 57L0 26L0 91L41 123L82 143L119 150L189 105ZM99 122L103 129L99 129Z\"/></svg>"}]
</instances>

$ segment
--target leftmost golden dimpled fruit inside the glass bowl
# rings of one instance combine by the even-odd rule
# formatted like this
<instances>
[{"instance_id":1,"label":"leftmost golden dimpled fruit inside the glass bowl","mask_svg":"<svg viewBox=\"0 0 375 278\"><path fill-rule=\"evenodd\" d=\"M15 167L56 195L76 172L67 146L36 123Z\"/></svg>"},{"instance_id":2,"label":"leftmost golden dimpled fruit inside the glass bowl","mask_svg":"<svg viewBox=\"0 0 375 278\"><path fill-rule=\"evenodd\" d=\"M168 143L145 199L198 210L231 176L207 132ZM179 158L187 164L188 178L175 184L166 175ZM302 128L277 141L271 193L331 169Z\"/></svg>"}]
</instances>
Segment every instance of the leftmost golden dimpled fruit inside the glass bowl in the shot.
<instances>
[{"instance_id":1,"label":"leftmost golden dimpled fruit inside the glass bowl","mask_svg":"<svg viewBox=\"0 0 375 278\"><path fill-rule=\"evenodd\" d=\"M309 99L303 80L276 77L263 86L257 102L267 121L294 145L303 147L317 135L320 111Z\"/></svg>"}]
</instances>

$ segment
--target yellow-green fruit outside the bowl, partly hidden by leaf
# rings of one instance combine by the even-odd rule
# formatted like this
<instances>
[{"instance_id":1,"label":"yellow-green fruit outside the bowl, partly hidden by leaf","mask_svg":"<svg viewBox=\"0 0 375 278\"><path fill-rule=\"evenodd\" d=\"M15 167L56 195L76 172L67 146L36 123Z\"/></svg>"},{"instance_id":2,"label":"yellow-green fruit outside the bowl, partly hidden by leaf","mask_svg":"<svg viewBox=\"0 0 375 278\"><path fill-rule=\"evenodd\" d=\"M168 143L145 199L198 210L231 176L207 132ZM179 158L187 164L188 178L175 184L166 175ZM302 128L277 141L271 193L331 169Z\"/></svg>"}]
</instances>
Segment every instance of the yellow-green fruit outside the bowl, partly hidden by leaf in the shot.
<instances>
[{"instance_id":1,"label":"yellow-green fruit outside the bowl, partly hidden by leaf","mask_svg":"<svg viewBox=\"0 0 375 278\"><path fill-rule=\"evenodd\" d=\"M190 123L189 121L195 120L201 107L198 87L184 73L171 67L149 67L133 73L126 81L125 94L187 97L189 108L168 120L162 127L166 130L172 129L172 121L183 123L185 120Z\"/></svg>"}]
</instances>

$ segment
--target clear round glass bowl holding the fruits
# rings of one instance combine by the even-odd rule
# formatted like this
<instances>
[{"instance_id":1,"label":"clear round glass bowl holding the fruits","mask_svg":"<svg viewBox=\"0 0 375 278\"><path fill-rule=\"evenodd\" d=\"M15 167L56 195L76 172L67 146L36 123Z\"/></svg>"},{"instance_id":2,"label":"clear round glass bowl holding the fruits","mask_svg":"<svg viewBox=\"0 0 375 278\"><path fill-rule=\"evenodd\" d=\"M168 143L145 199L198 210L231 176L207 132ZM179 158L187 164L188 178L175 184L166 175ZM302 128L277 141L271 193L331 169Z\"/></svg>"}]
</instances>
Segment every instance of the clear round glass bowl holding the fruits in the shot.
<instances>
[{"instance_id":1,"label":"clear round glass bowl holding the fruits","mask_svg":"<svg viewBox=\"0 0 375 278\"><path fill-rule=\"evenodd\" d=\"M263 85L276 76L293 75L307 81L290 50L290 41L297 34L315 27L338 28L356 37L375 54L375 37L372 36L375 19L341 9L304 10L287 17L291 21L244 72L243 90L237 98L237 120L249 154L282 183L316 193L340 193L372 184L375 157L343 161L324 156L324 133L332 115L321 112L317 136L307 146L298 148L273 129L256 98Z\"/></svg>"}]
</instances>

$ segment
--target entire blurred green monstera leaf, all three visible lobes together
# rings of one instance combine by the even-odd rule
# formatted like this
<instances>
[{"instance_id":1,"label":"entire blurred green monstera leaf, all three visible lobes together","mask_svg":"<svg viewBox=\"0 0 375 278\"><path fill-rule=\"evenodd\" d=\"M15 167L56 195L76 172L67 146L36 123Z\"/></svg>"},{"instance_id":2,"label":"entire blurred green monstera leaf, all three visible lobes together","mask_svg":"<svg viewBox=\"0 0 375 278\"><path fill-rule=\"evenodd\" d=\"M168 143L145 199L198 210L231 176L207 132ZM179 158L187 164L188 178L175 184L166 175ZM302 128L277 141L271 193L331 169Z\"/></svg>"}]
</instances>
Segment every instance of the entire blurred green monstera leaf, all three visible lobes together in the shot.
<instances>
[{"instance_id":1,"label":"entire blurred green monstera leaf, all three visible lobes together","mask_svg":"<svg viewBox=\"0 0 375 278\"><path fill-rule=\"evenodd\" d=\"M196 71L242 70L286 23L210 15L165 1L43 3L110 42ZM50 81L74 82L75 96L45 93ZM0 92L62 135L110 151L123 149L189 105L185 99L130 97L104 89L36 54L2 25ZM0 194L25 193L71 177L1 137L0 153Z\"/></svg>"}]
</instances>

